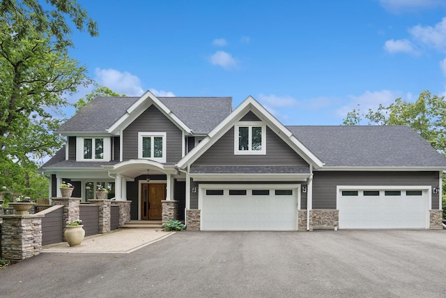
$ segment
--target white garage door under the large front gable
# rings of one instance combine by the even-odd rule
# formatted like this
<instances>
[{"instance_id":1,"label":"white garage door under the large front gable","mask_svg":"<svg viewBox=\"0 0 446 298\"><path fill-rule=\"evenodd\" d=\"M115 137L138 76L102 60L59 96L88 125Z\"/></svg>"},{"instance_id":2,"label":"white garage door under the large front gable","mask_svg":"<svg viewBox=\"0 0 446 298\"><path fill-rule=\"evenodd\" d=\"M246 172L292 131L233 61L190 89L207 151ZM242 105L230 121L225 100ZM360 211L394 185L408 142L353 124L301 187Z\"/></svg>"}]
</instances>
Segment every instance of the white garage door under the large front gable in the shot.
<instances>
[{"instance_id":1,"label":"white garage door under the large front gable","mask_svg":"<svg viewBox=\"0 0 446 298\"><path fill-rule=\"evenodd\" d=\"M201 230L297 230L299 189L203 186Z\"/></svg>"}]
</instances>

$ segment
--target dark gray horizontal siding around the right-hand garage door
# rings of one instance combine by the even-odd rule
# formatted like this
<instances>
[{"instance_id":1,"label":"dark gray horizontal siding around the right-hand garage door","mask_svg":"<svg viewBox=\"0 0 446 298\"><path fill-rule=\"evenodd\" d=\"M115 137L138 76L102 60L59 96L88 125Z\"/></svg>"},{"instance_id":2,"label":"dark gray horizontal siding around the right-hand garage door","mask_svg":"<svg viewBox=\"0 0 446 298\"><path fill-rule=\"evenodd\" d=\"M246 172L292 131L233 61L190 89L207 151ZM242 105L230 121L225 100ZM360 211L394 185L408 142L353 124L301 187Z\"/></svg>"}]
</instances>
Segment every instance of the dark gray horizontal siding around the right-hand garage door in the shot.
<instances>
[{"instance_id":1,"label":"dark gray horizontal siding around the right-hand garage door","mask_svg":"<svg viewBox=\"0 0 446 298\"><path fill-rule=\"evenodd\" d=\"M314 172L313 209L337 209L336 187L438 186L438 172ZM438 209L438 194L432 194L432 209Z\"/></svg>"}]
</instances>

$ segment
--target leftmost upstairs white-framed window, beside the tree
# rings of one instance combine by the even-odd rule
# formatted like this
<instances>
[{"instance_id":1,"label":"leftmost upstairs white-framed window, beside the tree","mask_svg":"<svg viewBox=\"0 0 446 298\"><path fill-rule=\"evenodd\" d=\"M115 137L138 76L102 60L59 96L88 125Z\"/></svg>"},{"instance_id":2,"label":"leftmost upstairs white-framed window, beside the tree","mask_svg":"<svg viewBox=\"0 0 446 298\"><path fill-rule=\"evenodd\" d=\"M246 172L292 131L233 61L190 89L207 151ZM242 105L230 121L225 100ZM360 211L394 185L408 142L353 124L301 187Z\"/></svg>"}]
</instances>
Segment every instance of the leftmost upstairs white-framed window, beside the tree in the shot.
<instances>
[{"instance_id":1,"label":"leftmost upstairs white-framed window, beside the tree","mask_svg":"<svg viewBox=\"0 0 446 298\"><path fill-rule=\"evenodd\" d=\"M77 137L77 161L110 161L109 137Z\"/></svg>"}]
</instances>

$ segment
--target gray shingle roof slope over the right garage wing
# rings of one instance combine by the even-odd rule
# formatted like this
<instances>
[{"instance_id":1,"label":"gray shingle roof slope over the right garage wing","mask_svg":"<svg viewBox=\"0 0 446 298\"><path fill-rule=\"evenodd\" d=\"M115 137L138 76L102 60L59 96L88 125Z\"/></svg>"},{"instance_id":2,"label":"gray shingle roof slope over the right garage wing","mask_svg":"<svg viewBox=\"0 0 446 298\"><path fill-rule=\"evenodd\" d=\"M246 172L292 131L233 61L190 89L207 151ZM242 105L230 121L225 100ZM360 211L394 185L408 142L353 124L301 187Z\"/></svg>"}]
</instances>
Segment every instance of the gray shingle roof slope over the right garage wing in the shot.
<instances>
[{"instance_id":1,"label":"gray shingle roof slope over the right garage wing","mask_svg":"<svg viewBox=\"0 0 446 298\"><path fill-rule=\"evenodd\" d=\"M286 127L327 166L446 168L446 158L408 126Z\"/></svg>"}]
</instances>

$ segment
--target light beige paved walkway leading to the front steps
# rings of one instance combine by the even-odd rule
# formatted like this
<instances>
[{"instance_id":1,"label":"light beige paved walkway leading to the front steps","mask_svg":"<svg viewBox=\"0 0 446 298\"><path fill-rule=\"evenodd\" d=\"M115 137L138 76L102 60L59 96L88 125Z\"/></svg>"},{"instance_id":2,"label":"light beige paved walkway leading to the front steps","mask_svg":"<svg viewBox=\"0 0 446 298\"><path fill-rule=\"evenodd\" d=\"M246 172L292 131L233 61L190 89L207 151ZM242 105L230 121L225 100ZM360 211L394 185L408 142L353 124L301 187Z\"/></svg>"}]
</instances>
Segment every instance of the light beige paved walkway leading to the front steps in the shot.
<instances>
[{"instance_id":1,"label":"light beige paved walkway leading to the front steps","mask_svg":"<svg viewBox=\"0 0 446 298\"><path fill-rule=\"evenodd\" d=\"M175 232L158 230L115 230L107 234L85 237L79 246L70 247L66 242L43 246L42 253L132 253L153 244Z\"/></svg>"}]
</instances>

